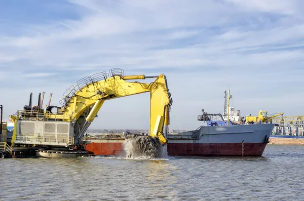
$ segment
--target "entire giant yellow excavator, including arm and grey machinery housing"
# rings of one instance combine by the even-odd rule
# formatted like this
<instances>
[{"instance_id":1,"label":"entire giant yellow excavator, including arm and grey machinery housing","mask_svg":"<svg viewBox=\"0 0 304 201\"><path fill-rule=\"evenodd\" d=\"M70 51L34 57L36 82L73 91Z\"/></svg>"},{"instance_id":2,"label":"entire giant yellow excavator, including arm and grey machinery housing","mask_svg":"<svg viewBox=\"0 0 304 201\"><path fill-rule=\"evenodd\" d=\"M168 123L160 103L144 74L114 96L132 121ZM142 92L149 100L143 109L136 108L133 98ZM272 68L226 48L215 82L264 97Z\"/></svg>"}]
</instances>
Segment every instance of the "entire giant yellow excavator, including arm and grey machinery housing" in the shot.
<instances>
[{"instance_id":1,"label":"entire giant yellow excavator, including arm and grey machinery housing","mask_svg":"<svg viewBox=\"0 0 304 201\"><path fill-rule=\"evenodd\" d=\"M135 81L147 78L156 79L151 83ZM52 106L49 101L46 109L42 109L41 93L38 104L32 106L31 93L29 105L10 115L15 125L12 144L77 147L106 100L146 92L150 92L150 136L165 145L172 105L166 76L124 75L120 68L80 79L63 94L61 107Z\"/></svg>"}]
</instances>

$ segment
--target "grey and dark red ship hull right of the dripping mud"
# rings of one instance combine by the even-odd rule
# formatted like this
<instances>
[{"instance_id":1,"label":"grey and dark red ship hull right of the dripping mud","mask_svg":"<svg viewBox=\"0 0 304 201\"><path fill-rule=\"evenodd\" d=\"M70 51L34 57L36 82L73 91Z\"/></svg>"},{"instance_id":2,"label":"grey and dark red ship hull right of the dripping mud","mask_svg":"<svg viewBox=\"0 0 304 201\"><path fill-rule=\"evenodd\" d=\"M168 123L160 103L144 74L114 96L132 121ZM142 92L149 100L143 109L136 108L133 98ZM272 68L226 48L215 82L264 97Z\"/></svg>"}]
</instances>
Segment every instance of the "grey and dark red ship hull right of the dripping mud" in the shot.
<instances>
[{"instance_id":1,"label":"grey and dark red ship hull right of the dripping mud","mask_svg":"<svg viewBox=\"0 0 304 201\"><path fill-rule=\"evenodd\" d=\"M170 135L168 155L175 156L261 156L274 125L200 127Z\"/></svg>"}]
</instances>

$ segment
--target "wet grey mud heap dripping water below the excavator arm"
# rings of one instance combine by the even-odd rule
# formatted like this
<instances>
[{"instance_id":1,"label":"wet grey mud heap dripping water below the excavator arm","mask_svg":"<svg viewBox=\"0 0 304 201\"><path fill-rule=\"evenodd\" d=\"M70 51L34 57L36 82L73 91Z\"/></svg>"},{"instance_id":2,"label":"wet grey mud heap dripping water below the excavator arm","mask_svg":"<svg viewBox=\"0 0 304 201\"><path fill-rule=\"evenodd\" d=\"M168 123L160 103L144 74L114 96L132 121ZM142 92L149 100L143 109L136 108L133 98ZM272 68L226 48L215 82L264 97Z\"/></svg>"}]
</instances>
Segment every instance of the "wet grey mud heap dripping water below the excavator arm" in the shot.
<instances>
[{"instance_id":1,"label":"wet grey mud heap dripping water below the excavator arm","mask_svg":"<svg viewBox=\"0 0 304 201\"><path fill-rule=\"evenodd\" d=\"M151 136L129 135L124 142L126 157L159 158L162 156L162 145L158 138Z\"/></svg>"}]
</instances>

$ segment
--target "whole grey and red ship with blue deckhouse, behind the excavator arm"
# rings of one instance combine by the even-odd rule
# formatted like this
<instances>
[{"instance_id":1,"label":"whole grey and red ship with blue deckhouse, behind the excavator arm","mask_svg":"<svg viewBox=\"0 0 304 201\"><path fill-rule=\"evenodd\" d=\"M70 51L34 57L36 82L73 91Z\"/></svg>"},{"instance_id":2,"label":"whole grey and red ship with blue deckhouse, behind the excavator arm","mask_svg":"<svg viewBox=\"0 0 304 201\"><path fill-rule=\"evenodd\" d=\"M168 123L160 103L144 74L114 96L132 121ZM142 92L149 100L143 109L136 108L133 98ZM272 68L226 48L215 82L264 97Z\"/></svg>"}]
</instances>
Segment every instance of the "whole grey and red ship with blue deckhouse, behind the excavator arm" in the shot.
<instances>
[{"instance_id":1,"label":"whole grey and red ship with blue deckhouse, behind the excavator arm","mask_svg":"<svg viewBox=\"0 0 304 201\"><path fill-rule=\"evenodd\" d=\"M203 111L198 120L207 122L193 131L169 132L168 156L261 156L274 124L233 125L221 114ZM219 120L212 119L219 116ZM142 133L141 135L145 135ZM84 139L86 150L94 155L119 155L124 153L123 134L112 133Z\"/></svg>"}]
</instances>

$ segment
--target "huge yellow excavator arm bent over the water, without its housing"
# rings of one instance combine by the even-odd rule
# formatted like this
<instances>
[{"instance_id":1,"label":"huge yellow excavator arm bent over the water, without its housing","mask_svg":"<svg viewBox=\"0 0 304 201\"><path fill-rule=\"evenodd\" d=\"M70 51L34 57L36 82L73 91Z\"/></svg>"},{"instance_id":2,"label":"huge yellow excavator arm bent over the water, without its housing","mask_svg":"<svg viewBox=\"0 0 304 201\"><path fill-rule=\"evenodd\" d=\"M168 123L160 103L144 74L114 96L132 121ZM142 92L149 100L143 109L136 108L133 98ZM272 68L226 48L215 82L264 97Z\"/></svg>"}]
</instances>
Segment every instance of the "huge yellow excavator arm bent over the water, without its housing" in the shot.
<instances>
[{"instance_id":1,"label":"huge yellow excavator arm bent over the water, without its housing","mask_svg":"<svg viewBox=\"0 0 304 201\"><path fill-rule=\"evenodd\" d=\"M122 69L112 69L110 75L101 72L81 79L64 94L61 102L63 106L59 113L50 113L48 118L62 118L64 121L74 123L74 144L77 145L81 143L84 133L104 101L150 92L150 136L158 137L165 145L172 105L166 76L163 74L159 76L123 75ZM128 82L128 80L146 78L156 79L149 84Z\"/></svg>"}]
</instances>

